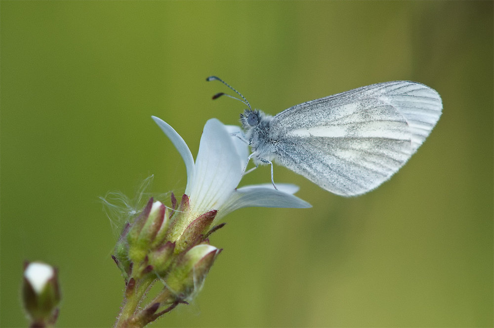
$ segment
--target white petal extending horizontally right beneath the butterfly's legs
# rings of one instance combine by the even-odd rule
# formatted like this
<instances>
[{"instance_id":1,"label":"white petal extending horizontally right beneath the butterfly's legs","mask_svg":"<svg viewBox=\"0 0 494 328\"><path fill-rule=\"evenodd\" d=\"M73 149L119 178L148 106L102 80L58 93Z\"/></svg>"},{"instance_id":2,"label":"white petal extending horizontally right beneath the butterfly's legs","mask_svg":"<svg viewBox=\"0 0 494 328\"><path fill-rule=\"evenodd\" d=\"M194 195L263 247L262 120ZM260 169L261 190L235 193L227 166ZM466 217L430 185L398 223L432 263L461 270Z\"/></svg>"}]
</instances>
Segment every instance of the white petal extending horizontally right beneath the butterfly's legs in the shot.
<instances>
[{"instance_id":1,"label":"white petal extending horizontally right beneath the butterfly's legs","mask_svg":"<svg viewBox=\"0 0 494 328\"><path fill-rule=\"evenodd\" d=\"M285 184L281 185L286 187ZM276 187L280 188L278 184ZM293 190L293 187L288 187L288 189L290 188ZM271 187L252 185L237 189L228 201L219 208L214 221L216 222L228 213L243 207L309 208L312 205L290 193L274 189L273 185Z\"/></svg>"}]
</instances>

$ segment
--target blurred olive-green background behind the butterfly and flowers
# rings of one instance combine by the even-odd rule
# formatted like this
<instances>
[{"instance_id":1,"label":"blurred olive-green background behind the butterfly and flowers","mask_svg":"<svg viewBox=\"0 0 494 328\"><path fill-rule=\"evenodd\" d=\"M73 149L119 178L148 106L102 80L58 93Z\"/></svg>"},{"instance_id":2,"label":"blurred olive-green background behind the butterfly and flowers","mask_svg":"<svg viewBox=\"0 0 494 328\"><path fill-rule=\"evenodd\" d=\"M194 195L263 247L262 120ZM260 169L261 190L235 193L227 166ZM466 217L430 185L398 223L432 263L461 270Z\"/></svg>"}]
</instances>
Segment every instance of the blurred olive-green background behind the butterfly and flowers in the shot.
<instances>
[{"instance_id":1,"label":"blurred olive-green background behind the butterfly and flowers","mask_svg":"<svg viewBox=\"0 0 494 328\"><path fill-rule=\"evenodd\" d=\"M59 327L109 327L124 287L98 196L180 194L204 123L355 87L436 89L436 128L356 198L288 169L311 209L246 208L195 303L153 327L493 327L493 2L1 1L2 327L27 325L22 263L60 270ZM269 167L243 184L269 182Z\"/></svg>"}]
</instances>

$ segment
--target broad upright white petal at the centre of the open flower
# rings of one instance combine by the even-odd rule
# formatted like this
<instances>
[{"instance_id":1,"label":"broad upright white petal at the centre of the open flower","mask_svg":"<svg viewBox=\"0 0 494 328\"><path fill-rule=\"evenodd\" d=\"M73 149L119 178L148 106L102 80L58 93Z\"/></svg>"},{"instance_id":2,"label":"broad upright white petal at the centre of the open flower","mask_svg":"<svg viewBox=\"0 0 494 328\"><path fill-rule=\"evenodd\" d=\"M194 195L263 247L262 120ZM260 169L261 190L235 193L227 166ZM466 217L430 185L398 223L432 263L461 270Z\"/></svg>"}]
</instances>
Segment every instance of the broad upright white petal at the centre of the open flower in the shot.
<instances>
[{"instance_id":1,"label":"broad upright white petal at the centre of the open flower","mask_svg":"<svg viewBox=\"0 0 494 328\"><path fill-rule=\"evenodd\" d=\"M191 210L218 209L237 188L242 168L234 137L218 120L207 121L199 144L193 182L185 190L190 197Z\"/></svg>"}]
</instances>

